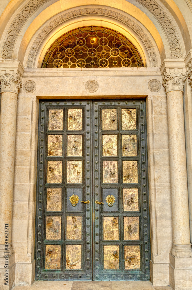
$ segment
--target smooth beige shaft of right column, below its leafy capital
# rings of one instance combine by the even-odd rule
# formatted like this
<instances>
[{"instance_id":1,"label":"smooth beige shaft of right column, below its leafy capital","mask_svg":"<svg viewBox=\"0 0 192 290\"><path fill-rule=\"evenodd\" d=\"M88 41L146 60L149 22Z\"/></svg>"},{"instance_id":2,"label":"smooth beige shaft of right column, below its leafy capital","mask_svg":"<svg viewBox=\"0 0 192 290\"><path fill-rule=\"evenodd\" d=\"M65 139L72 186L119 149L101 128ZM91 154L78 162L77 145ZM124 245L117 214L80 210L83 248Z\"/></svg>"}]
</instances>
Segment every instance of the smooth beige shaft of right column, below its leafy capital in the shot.
<instances>
[{"instance_id":1,"label":"smooth beige shaft of right column, below its leafy capital","mask_svg":"<svg viewBox=\"0 0 192 290\"><path fill-rule=\"evenodd\" d=\"M179 246L189 247L189 251L191 245L189 234L183 95L181 90L167 92L167 112L173 218L173 253ZM174 244L176 247L174 247Z\"/></svg>"}]
</instances>

